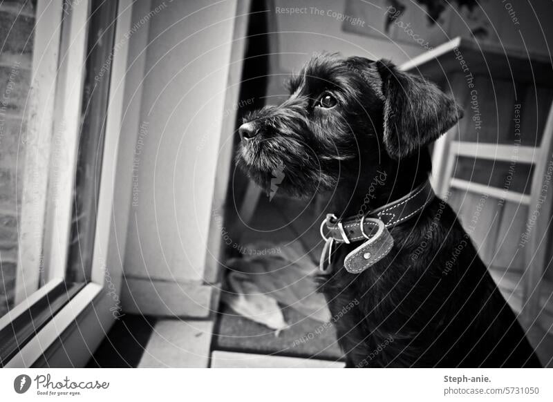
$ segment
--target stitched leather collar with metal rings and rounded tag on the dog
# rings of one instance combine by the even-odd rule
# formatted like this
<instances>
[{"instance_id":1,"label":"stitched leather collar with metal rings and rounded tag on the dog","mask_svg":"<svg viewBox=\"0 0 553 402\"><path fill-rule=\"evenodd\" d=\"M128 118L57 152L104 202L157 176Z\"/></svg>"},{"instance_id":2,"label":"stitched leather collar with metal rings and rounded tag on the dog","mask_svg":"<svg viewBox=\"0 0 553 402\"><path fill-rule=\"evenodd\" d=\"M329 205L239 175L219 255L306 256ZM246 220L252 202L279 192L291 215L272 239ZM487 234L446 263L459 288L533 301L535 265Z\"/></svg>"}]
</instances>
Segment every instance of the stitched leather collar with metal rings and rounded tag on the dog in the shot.
<instances>
[{"instance_id":1,"label":"stitched leather collar with metal rings and rounded tag on the dog","mask_svg":"<svg viewBox=\"0 0 553 402\"><path fill-rule=\"evenodd\" d=\"M432 186L427 180L399 200L395 200L364 216L345 220L330 213L321 223L321 236L325 240L319 269L329 274L332 247L335 242L350 244L365 240L362 245L348 253L344 267L351 274L359 274L384 258L393 247L393 238L388 228L409 220L434 198ZM326 227L326 234L325 229Z\"/></svg>"}]
</instances>

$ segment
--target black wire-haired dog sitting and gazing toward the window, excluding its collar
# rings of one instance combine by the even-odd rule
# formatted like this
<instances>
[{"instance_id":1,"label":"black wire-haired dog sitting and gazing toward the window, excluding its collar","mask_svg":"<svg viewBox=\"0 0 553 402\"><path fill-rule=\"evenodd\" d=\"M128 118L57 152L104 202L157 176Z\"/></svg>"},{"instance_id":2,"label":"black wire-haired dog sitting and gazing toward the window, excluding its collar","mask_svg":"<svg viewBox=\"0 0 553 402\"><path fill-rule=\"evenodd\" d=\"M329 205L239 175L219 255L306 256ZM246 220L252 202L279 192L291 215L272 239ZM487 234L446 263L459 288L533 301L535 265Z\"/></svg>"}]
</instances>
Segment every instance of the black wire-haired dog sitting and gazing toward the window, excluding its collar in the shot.
<instances>
[{"instance_id":1,"label":"black wire-haired dog sitting and gazing toward the window, excluding its collar","mask_svg":"<svg viewBox=\"0 0 553 402\"><path fill-rule=\"evenodd\" d=\"M427 145L462 117L435 85L362 57L314 57L290 93L245 117L238 164L265 189L283 168L279 191L332 193L338 222L424 184ZM332 315L346 311L335 325L348 367L539 367L455 213L438 198L415 212L374 265L351 274L357 245L341 242L321 278Z\"/></svg>"}]
</instances>

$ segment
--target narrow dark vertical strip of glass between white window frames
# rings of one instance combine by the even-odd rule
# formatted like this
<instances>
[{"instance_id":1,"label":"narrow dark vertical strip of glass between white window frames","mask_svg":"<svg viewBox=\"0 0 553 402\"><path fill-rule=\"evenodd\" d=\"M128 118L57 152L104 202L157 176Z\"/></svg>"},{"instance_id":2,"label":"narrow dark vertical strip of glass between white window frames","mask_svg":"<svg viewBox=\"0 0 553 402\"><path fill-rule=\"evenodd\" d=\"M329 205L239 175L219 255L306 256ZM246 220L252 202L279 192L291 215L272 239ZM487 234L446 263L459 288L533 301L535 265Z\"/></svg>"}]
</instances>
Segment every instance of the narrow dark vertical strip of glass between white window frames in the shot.
<instances>
[{"instance_id":1,"label":"narrow dark vertical strip of glass between white window frames","mask_svg":"<svg viewBox=\"0 0 553 402\"><path fill-rule=\"evenodd\" d=\"M66 278L91 279L117 1L92 1Z\"/></svg>"}]
</instances>

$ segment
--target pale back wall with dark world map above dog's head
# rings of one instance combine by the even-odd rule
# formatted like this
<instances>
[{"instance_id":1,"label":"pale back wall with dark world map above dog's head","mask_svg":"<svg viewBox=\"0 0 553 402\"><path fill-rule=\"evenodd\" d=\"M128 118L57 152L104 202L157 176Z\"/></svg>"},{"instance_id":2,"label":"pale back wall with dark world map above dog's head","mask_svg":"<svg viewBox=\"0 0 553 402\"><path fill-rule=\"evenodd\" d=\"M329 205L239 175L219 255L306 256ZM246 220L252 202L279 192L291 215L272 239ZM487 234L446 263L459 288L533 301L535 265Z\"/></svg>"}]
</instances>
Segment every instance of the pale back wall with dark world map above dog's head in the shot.
<instances>
[{"instance_id":1,"label":"pale back wall with dark world map above dog's head","mask_svg":"<svg viewBox=\"0 0 553 402\"><path fill-rule=\"evenodd\" d=\"M340 52L344 56L357 55L371 59L387 58L402 64L409 58L427 50L422 42L436 46L456 36L474 39L471 24L474 19L483 21L489 35L482 39L485 44L501 44L505 48L515 48L523 52L540 52L548 55L547 43L553 38L551 24L543 23L544 15L551 15L553 3L547 0L529 3L505 0L482 0L480 8L469 12L468 8L454 9L446 6L438 22L429 26L426 8L420 6L422 1L400 0L398 3L409 5L406 12L391 24L390 32L384 32L379 26L382 15L391 1L355 0L274 0L274 9L270 12L277 19L279 30L279 51L281 68L291 71L301 66L312 52L327 50ZM452 3L453 4L453 3ZM286 14L276 12L276 8L306 8L303 14ZM317 8L317 12L315 11ZM378 15L375 15L378 13ZM342 30L342 22L337 15L344 15L351 23L345 25L348 32ZM355 23L353 18L359 17ZM539 19L538 19L539 18ZM363 23L363 26L361 26ZM416 43L406 34L408 29L400 27L410 24L414 34L421 40ZM375 36L356 35L354 31L363 32L375 28ZM385 35L376 36L377 32Z\"/></svg>"}]
</instances>

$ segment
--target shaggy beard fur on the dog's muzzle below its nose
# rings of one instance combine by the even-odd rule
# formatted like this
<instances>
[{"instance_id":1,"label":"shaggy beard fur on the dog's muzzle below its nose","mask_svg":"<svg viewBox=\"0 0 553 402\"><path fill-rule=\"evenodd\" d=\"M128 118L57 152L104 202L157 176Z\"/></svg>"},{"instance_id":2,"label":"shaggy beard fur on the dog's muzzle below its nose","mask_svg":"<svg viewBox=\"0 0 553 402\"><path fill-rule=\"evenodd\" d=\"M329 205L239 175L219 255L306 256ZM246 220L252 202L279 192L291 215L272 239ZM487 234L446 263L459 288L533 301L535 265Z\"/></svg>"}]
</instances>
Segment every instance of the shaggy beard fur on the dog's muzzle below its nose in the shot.
<instances>
[{"instance_id":1,"label":"shaggy beard fur on the dog's muzzle below its nose","mask_svg":"<svg viewBox=\"0 0 553 402\"><path fill-rule=\"evenodd\" d=\"M305 198L317 191L333 189L337 184L335 175L325 170L328 161L291 138L250 140L240 144L236 159L238 166L270 198L276 193Z\"/></svg>"}]
</instances>

